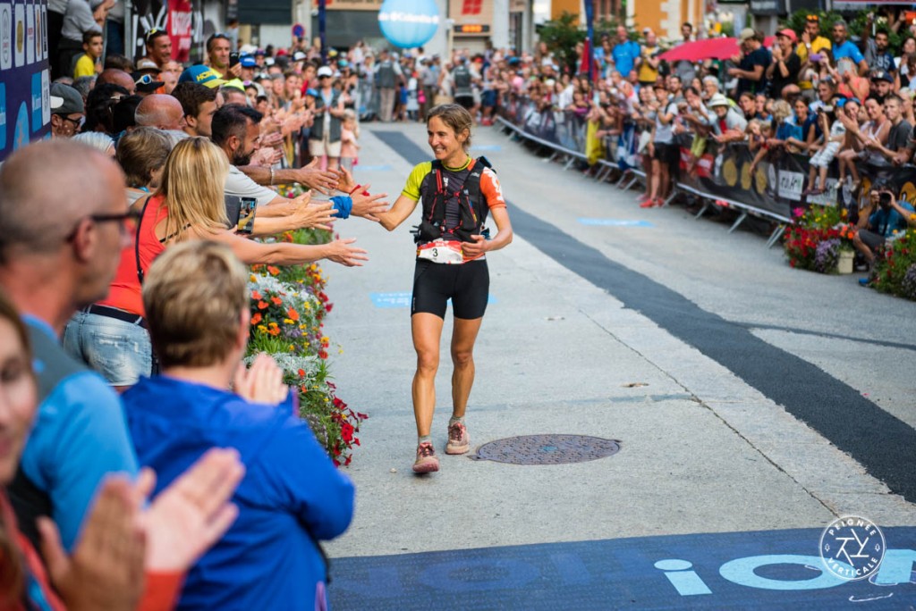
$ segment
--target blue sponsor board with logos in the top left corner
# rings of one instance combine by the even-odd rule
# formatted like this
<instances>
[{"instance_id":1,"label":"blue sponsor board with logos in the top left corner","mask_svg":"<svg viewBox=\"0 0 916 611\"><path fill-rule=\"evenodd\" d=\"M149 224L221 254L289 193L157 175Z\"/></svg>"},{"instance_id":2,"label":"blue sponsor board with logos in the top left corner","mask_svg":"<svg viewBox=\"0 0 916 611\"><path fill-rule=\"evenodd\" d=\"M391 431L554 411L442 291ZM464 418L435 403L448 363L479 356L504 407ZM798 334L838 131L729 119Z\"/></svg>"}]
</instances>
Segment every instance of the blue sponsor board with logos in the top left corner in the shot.
<instances>
[{"instance_id":1,"label":"blue sponsor board with logos in the top left corner","mask_svg":"<svg viewBox=\"0 0 916 611\"><path fill-rule=\"evenodd\" d=\"M50 132L48 3L0 2L0 161Z\"/></svg>"}]
</instances>

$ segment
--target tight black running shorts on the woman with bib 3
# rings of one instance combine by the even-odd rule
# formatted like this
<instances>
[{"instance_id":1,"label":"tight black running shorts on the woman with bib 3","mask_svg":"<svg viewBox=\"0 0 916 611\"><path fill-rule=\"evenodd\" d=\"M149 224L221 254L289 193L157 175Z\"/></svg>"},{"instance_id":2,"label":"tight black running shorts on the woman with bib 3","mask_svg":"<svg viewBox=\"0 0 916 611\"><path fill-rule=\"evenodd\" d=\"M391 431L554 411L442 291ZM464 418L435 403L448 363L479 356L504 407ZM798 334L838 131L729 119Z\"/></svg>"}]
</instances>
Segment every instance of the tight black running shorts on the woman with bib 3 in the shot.
<instances>
[{"instance_id":1,"label":"tight black running shorts on the woman with bib 3","mask_svg":"<svg viewBox=\"0 0 916 611\"><path fill-rule=\"evenodd\" d=\"M445 318L446 303L452 299L455 318L480 318L486 311L489 293L490 272L484 259L461 265L418 259L413 273L410 316L426 312Z\"/></svg>"}]
</instances>

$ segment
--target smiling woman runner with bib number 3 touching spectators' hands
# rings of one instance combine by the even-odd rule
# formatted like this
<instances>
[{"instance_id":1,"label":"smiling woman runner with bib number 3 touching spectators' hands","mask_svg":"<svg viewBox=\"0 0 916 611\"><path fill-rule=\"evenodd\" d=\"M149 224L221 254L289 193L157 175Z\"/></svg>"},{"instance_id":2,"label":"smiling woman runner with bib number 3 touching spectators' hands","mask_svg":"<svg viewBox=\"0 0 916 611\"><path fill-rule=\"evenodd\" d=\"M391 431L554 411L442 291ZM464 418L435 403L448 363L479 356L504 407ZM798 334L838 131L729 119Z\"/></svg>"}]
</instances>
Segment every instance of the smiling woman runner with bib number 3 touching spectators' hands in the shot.
<instances>
[{"instance_id":1,"label":"smiling woman runner with bib number 3 touching spectators' hands","mask_svg":"<svg viewBox=\"0 0 916 611\"><path fill-rule=\"evenodd\" d=\"M417 231L417 267L413 275L410 323L417 350L413 378L413 412L417 419L416 473L439 470L430 430L436 407L435 379L446 302L454 310L452 333L452 419L446 454L464 454L471 442L464 410L474 385L474 341L484 317L490 275L485 253L512 241L512 225L496 173L484 157L468 155L474 119L457 104L443 104L427 117L427 134L435 156L413 168L394 206L378 215L387 230L410 216L422 199L423 218ZM496 222L488 240L487 214Z\"/></svg>"}]
</instances>

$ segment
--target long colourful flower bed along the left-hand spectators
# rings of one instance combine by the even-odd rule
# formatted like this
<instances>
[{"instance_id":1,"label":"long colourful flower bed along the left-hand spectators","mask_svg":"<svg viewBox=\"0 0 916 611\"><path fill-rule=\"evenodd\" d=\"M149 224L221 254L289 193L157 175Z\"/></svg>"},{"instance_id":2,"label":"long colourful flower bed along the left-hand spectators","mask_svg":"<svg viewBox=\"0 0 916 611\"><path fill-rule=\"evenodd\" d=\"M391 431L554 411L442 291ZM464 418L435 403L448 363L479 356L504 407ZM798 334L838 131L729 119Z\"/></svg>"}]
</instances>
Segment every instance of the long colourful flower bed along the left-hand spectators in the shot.
<instances>
[{"instance_id":1,"label":"long colourful flower bed along the left-hand spectators","mask_svg":"<svg viewBox=\"0 0 916 611\"><path fill-rule=\"evenodd\" d=\"M299 230L281 239L300 244L324 243L330 233ZM333 304L324 293L327 277L317 263L284 268L251 268L251 335L245 358L267 352L284 370L284 381L299 392L300 416L324 445L337 466L349 465L359 445L359 424L367 417L350 409L329 380L328 349L322 334L324 317Z\"/></svg>"}]
</instances>

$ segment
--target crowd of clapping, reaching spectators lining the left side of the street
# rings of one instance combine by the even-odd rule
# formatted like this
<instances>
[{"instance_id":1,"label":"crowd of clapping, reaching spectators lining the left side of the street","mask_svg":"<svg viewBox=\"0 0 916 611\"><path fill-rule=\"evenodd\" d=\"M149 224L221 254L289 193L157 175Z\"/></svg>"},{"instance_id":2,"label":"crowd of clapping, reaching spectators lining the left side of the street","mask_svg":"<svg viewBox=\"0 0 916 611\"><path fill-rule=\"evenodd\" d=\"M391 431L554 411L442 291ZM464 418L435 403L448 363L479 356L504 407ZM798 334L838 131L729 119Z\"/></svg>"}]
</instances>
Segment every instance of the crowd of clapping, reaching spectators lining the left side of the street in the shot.
<instances>
[{"instance_id":1,"label":"crowd of clapping, reaching spectators lining the left side of the street","mask_svg":"<svg viewBox=\"0 0 916 611\"><path fill-rule=\"evenodd\" d=\"M243 263L366 259L252 238L388 208L337 169L358 151L339 64L96 40L51 85L50 140L0 167L0 608L325 608L319 541L353 486L278 365L240 362Z\"/></svg>"}]
</instances>

